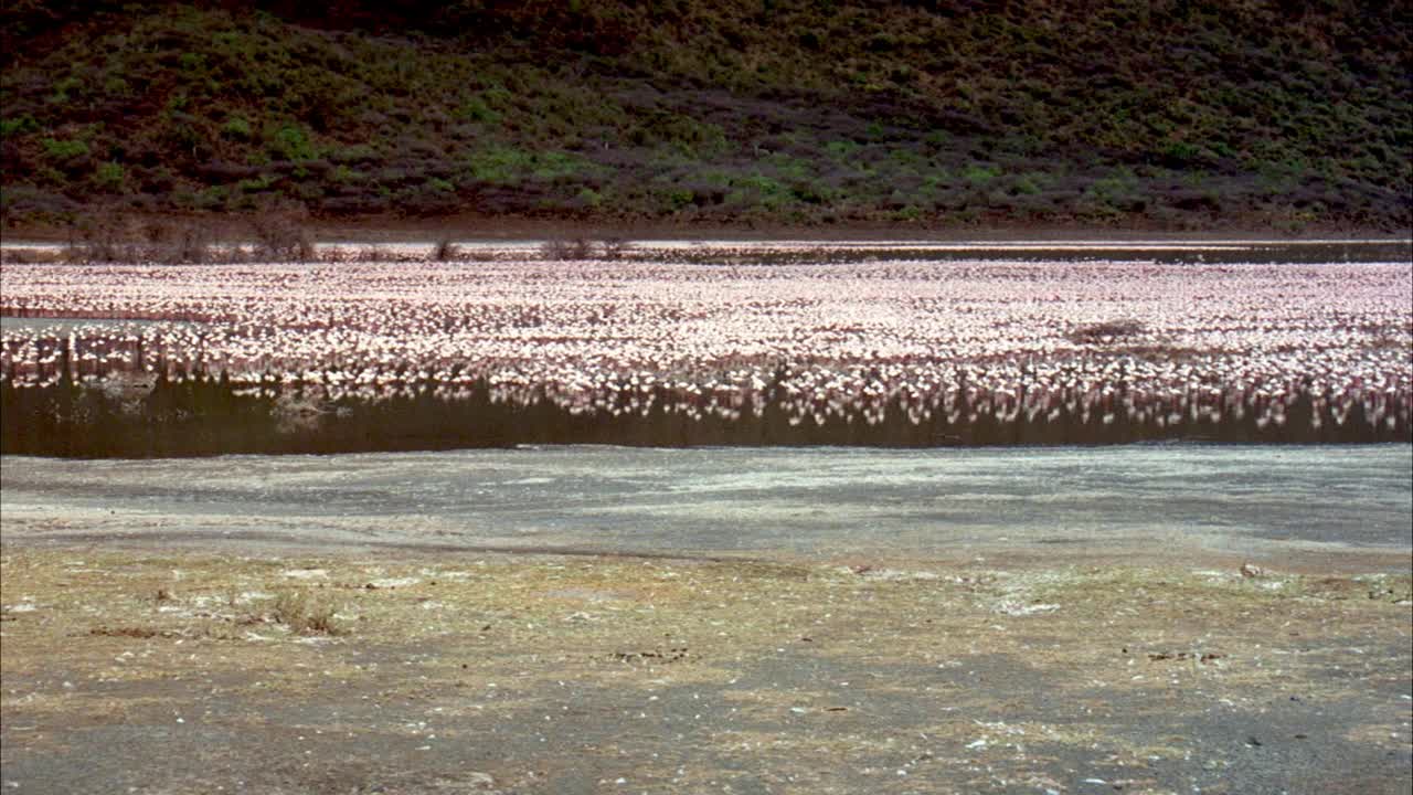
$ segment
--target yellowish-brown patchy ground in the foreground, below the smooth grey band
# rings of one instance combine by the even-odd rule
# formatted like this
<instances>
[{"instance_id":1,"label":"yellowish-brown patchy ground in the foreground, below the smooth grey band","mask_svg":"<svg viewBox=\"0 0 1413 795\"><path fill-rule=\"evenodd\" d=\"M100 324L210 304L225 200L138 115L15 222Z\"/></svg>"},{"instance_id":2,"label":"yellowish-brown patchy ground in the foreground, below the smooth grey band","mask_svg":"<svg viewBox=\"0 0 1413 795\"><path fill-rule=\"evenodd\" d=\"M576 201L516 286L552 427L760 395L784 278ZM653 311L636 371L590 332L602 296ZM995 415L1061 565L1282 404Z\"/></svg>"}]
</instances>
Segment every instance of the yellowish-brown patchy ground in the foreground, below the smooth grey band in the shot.
<instances>
[{"instance_id":1,"label":"yellowish-brown patchy ground in the foreground, below the smooth grey band","mask_svg":"<svg viewBox=\"0 0 1413 795\"><path fill-rule=\"evenodd\" d=\"M1406 792L1407 573L1241 563L6 545L4 787Z\"/></svg>"}]
</instances>

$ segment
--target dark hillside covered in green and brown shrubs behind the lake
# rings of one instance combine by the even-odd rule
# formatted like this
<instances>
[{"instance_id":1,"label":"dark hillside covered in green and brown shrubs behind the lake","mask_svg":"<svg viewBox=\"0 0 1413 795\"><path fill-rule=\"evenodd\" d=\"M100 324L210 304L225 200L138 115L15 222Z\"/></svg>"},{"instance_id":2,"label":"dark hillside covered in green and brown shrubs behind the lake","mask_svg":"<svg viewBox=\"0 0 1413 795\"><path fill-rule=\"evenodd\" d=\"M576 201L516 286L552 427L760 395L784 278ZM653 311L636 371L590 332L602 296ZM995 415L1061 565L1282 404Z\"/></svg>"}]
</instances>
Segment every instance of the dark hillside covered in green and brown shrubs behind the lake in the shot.
<instances>
[{"instance_id":1,"label":"dark hillside covered in green and brown shrubs behind the lake","mask_svg":"<svg viewBox=\"0 0 1413 795\"><path fill-rule=\"evenodd\" d=\"M1354 0L13 0L3 216L298 202L1406 231L1409 17Z\"/></svg>"}]
</instances>

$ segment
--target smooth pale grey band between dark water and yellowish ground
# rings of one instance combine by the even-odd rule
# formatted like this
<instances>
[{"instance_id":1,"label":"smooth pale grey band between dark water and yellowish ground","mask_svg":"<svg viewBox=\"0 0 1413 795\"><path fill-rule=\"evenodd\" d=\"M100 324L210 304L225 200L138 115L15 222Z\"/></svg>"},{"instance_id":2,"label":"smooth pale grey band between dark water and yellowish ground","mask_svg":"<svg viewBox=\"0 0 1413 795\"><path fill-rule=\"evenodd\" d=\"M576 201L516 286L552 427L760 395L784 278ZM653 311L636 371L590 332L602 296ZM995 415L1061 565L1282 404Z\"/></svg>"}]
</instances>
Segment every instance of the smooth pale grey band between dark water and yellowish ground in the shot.
<instances>
[{"instance_id":1,"label":"smooth pale grey band between dark water and yellowish ground","mask_svg":"<svg viewBox=\"0 0 1413 795\"><path fill-rule=\"evenodd\" d=\"M10 542L950 556L1413 547L1413 446L4 457Z\"/></svg>"}]
</instances>

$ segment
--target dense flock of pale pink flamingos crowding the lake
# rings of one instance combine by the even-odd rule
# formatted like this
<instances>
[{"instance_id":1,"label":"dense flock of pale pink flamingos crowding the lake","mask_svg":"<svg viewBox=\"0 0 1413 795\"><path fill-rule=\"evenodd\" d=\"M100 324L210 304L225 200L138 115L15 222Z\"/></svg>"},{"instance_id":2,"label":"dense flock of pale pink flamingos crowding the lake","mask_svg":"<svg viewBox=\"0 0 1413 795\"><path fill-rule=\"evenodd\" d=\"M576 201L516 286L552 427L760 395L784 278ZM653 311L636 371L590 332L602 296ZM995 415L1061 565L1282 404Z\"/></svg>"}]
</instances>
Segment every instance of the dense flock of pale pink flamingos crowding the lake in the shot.
<instances>
[{"instance_id":1,"label":"dense flock of pale pink flamingos crowding the lake","mask_svg":"<svg viewBox=\"0 0 1413 795\"><path fill-rule=\"evenodd\" d=\"M1409 433L1413 266L887 259L6 265L14 386L226 373L317 400L489 386L790 424L1349 416ZM66 373L66 375L65 375Z\"/></svg>"}]
</instances>

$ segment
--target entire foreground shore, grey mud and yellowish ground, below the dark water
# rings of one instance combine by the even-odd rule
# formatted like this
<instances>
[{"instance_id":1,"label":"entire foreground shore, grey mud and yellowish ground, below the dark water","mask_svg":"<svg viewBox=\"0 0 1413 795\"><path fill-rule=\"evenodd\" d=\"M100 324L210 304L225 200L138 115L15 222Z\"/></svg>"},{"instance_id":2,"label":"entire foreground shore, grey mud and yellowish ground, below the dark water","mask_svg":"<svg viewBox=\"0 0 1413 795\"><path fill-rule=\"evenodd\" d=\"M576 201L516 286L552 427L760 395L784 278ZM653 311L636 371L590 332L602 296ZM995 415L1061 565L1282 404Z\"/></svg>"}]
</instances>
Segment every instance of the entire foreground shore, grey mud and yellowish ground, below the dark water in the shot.
<instances>
[{"instance_id":1,"label":"entire foreground shore, grey mud and yellowish ground, below the dark water","mask_svg":"<svg viewBox=\"0 0 1413 795\"><path fill-rule=\"evenodd\" d=\"M1413 782L1406 446L0 463L7 791Z\"/></svg>"}]
</instances>

